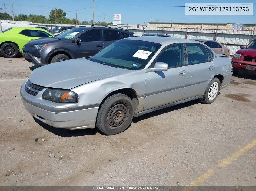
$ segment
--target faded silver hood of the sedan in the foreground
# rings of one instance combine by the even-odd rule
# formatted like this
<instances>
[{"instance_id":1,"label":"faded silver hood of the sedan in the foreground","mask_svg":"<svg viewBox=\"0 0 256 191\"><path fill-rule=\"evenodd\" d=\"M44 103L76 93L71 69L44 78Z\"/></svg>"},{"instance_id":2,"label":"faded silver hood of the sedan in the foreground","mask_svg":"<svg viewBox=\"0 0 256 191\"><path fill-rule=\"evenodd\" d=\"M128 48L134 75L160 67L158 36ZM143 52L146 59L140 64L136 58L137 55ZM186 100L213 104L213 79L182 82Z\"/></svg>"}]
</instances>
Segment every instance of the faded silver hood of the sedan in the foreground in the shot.
<instances>
[{"instance_id":1,"label":"faded silver hood of the sedan in the foreground","mask_svg":"<svg viewBox=\"0 0 256 191\"><path fill-rule=\"evenodd\" d=\"M91 81L132 71L80 58L36 68L30 74L29 79L31 83L44 87L71 89Z\"/></svg>"}]
</instances>

